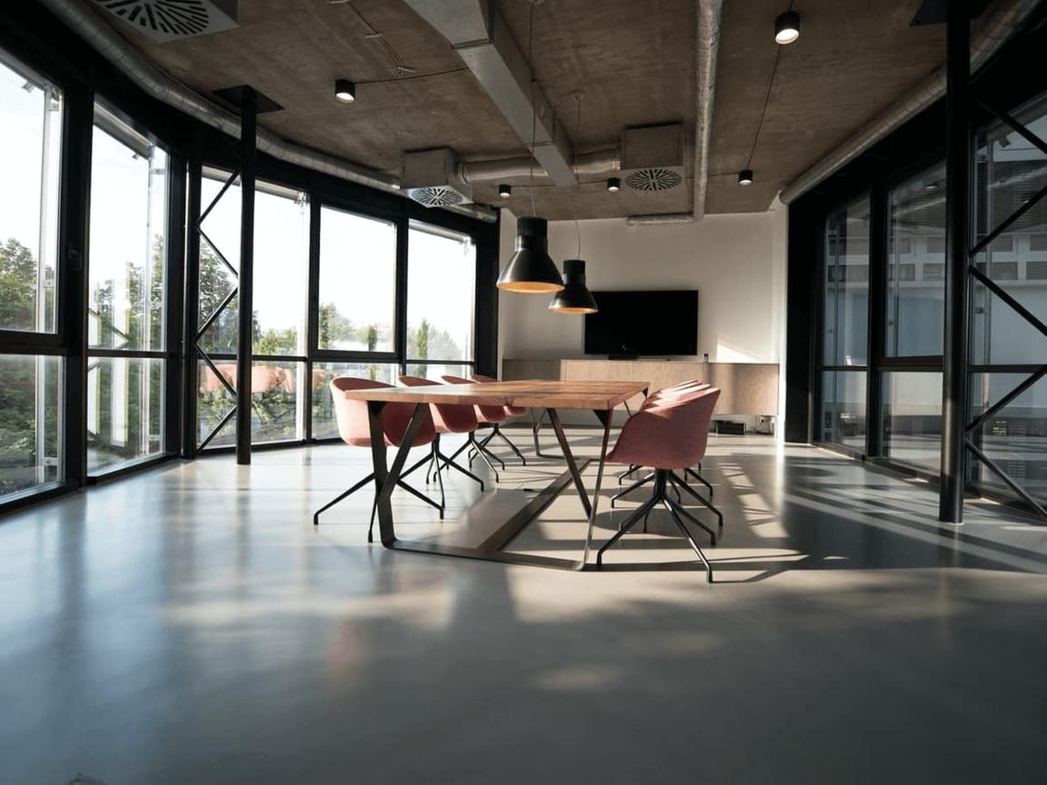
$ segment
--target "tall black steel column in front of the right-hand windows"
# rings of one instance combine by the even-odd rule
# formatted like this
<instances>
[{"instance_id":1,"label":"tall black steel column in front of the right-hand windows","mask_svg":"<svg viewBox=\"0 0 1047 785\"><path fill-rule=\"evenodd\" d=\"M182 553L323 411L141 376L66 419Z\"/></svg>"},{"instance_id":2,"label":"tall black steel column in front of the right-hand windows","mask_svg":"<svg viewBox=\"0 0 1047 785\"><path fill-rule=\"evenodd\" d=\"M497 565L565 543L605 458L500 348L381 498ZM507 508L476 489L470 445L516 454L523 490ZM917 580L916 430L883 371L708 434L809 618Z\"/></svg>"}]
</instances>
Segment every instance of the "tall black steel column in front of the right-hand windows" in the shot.
<instances>
[{"instance_id":1,"label":"tall black steel column in front of the right-hand windows","mask_svg":"<svg viewBox=\"0 0 1047 785\"><path fill-rule=\"evenodd\" d=\"M938 520L963 521L967 420L967 265L971 249L971 19L949 3L945 51L945 345Z\"/></svg>"}]
</instances>

